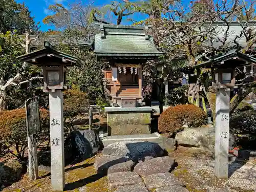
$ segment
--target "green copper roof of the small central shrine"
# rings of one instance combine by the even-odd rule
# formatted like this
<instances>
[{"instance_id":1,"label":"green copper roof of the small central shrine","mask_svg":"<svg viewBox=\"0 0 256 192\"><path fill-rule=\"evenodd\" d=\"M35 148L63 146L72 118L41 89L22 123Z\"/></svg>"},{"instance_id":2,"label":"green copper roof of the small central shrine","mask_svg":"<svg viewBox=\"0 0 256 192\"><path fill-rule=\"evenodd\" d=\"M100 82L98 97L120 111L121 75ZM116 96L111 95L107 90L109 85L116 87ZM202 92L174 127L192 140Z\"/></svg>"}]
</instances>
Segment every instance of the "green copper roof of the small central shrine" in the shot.
<instances>
[{"instance_id":1,"label":"green copper roof of the small central shrine","mask_svg":"<svg viewBox=\"0 0 256 192\"><path fill-rule=\"evenodd\" d=\"M95 36L94 52L100 58L145 59L162 55L144 26L101 25L101 33Z\"/></svg>"}]
</instances>

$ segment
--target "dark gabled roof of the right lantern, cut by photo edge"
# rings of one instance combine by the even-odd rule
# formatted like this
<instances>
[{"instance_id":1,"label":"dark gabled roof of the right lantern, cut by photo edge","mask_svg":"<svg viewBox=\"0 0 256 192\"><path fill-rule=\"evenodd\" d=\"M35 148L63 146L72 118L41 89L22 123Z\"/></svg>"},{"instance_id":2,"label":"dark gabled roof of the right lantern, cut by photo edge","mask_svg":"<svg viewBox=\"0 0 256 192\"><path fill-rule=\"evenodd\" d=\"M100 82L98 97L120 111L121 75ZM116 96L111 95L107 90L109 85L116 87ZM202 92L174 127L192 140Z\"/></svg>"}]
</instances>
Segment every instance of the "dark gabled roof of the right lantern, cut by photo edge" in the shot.
<instances>
[{"instance_id":1,"label":"dark gabled roof of the right lantern, cut by photo edge","mask_svg":"<svg viewBox=\"0 0 256 192\"><path fill-rule=\"evenodd\" d=\"M231 49L216 57L212 57L210 60L202 62L199 65L180 68L179 71L190 74L198 68L227 69L251 64L256 64L256 58L242 53L239 49Z\"/></svg>"}]
</instances>

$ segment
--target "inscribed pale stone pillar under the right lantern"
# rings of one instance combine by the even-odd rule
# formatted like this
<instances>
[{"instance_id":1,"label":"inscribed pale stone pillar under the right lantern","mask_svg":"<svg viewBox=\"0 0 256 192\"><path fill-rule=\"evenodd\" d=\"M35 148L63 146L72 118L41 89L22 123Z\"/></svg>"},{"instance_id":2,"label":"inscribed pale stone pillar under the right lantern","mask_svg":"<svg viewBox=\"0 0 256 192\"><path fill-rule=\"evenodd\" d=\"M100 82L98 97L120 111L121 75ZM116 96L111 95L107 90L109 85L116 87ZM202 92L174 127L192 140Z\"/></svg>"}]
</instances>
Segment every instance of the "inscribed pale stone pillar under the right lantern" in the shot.
<instances>
[{"instance_id":1,"label":"inscribed pale stone pillar under the right lantern","mask_svg":"<svg viewBox=\"0 0 256 192\"><path fill-rule=\"evenodd\" d=\"M228 178L229 95L229 90L219 89L216 96L215 175L219 179Z\"/></svg>"}]
</instances>

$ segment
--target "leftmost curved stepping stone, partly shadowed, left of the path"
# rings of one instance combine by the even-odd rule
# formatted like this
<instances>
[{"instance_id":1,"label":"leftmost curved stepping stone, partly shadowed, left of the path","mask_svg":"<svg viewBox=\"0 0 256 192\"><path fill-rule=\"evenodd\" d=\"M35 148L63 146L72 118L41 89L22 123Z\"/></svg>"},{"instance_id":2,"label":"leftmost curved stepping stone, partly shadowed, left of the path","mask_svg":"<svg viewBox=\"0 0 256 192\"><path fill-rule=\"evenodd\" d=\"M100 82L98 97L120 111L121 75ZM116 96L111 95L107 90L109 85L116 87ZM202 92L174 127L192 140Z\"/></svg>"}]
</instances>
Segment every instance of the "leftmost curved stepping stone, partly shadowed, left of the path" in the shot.
<instances>
[{"instance_id":1,"label":"leftmost curved stepping stone, partly shadowed, left of the path","mask_svg":"<svg viewBox=\"0 0 256 192\"><path fill-rule=\"evenodd\" d=\"M94 168L97 170L99 174L108 173L108 169L116 164L126 162L128 159L125 157L116 157L110 155L103 155L97 157L94 162Z\"/></svg>"}]
</instances>

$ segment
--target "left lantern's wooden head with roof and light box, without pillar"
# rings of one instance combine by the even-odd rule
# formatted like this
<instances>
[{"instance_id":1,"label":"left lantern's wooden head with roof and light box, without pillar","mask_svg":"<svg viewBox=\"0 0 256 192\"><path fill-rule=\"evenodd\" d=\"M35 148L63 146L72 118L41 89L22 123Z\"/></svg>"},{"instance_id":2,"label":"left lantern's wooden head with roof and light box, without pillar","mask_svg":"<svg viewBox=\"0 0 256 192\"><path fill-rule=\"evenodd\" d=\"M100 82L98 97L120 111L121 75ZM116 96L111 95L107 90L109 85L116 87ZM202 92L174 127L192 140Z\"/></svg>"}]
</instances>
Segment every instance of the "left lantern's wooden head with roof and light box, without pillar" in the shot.
<instances>
[{"instance_id":1,"label":"left lantern's wooden head with roof and light box, without pillar","mask_svg":"<svg viewBox=\"0 0 256 192\"><path fill-rule=\"evenodd\" d=\"M44 92L67 89L67 67L81 66L81 61L72 55L60 52L45 41L45 48L17 57L20 61L42 68L44 74Z\"/></svg>"}]
</instances>

